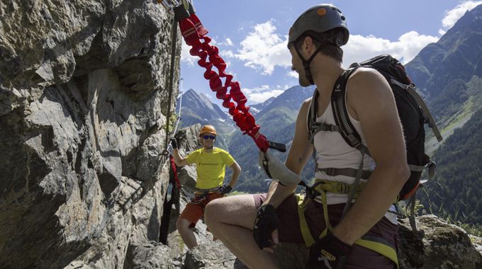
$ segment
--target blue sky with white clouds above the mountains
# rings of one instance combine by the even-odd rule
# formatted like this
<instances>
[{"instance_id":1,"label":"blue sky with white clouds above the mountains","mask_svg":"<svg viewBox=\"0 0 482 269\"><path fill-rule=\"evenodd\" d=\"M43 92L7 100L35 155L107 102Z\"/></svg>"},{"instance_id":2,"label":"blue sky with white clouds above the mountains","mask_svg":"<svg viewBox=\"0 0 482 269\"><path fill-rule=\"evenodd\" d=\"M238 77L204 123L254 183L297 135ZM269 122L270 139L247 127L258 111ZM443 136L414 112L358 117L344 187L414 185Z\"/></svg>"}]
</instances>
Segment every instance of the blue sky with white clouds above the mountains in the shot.
<instances>
[{"instance_id":1,"label":"blue sky with white clouds above the mountains","mask_svg":"<svg viewBox=\"0 0 482 269\"><path fill-rule=\"evenodd\" d=\"M298 16L320 1L194 0L196 14L228 64L226 71L239 81L248 104L278 96L298 84L291 71L286 48L288 29ZM410 62L430 42L437 42L467 10L482 1L456 0L344 0L327 2L344 13L350 38L344 50L344 67L388 53ZM205 69L189 55L184 41L181 52L182 91L189 88L215 94L203 78ZM215 69L217 71L217 69Z\"/></svg>"}]
</instances>

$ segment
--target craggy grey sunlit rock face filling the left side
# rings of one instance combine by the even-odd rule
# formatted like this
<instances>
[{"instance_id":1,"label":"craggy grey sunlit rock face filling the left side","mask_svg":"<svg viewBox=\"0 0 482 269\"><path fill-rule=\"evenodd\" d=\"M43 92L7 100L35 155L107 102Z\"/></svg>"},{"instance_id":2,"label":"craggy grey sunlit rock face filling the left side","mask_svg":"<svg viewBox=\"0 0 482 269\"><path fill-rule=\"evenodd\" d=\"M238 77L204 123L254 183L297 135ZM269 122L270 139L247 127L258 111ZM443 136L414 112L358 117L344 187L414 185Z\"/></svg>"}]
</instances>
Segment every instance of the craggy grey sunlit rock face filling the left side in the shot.
<instances>
[{"instance_id":1,"label":"craggy grey sunlit rock face filling the left side","mask_svg":"<svg viewBox=\"0 0 482 269\"><path fill-rule=\"evenodd\" d=\"M172 16L115 0L2 0L0 16L0 268L137 263L169 184Z\"/></svg>"}]
</instances>

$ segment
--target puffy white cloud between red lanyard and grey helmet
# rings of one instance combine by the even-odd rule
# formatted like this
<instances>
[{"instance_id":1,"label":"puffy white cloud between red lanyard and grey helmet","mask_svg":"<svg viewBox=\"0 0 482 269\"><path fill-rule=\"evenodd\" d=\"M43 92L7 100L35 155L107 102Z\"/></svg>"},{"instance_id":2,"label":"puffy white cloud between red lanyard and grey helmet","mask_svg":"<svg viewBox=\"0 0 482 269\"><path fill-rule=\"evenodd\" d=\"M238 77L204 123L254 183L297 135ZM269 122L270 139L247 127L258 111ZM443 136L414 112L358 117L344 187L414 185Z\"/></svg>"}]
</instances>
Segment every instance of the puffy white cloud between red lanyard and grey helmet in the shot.
<instances>
[{"instance_id":1,"label":"puffy white cloud between red lanyard and grey helmet","mask_svg":"<svg viewBox=\"0 0 482 269\"><path fill-rule=\"evenodd\" d=\"M254 25L254 31L241 41L235 57L246 67L271 75L274 67L291 67L291 56L286 49L287 37L275 33L273 21Z\"/></svg>"}]
</instances>

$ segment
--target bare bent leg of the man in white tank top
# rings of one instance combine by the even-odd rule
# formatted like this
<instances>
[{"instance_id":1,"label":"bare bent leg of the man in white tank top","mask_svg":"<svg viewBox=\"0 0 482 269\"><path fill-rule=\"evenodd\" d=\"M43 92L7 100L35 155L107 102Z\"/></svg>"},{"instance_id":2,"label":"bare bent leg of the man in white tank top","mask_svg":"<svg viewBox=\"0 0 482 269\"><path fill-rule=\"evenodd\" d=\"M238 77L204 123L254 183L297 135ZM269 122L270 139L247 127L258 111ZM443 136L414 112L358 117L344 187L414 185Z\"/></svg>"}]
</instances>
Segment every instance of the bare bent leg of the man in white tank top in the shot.
<instances>
[{"instance_id":1,"label":"bare bent leg of the man in white tank top","mask_svg":"<svg viewBox=\"0 0 482 269\"><path fill-rule=\"evenodd\" d=\"M249 268L277 268L273 256L258 248L252 228L257 208L252 195L235 195L208 203L204 222L215 237Z\"/></svg>"}]
</instances>

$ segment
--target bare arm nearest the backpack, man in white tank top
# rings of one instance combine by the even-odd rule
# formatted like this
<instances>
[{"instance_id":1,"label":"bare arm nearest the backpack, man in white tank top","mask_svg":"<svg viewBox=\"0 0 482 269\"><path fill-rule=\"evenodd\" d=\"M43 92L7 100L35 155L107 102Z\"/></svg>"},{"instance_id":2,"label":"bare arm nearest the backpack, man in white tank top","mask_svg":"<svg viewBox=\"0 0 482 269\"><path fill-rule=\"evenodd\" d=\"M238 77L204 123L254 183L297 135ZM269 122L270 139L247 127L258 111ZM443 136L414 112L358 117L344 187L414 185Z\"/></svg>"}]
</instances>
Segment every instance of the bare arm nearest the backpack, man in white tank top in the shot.
<instances>
[{"instance_id":1,"label":"bare arm nearest the backpack, man in white tank top","mask_svg":"<svg viewBox=\"0 0 482 269\"><path fill-rule=\"evenodd\" d=\"M354 244L379 222L410 176L395 99L386 80L373 69L359 69L347 84L347 107L361 124L376 168L357 202L333 234Z\"/></svg>"}]
</instances>

